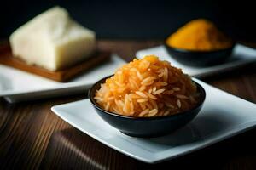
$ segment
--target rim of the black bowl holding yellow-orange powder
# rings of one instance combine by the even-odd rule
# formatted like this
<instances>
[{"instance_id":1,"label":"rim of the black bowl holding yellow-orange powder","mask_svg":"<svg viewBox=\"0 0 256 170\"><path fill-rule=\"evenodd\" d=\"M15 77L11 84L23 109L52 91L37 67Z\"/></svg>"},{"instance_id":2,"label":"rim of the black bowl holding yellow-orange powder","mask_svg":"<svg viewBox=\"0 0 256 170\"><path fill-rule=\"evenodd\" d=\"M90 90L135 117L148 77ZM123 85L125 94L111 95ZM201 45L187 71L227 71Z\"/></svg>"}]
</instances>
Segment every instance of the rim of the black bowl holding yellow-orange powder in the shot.
<instances>
[{"instance_id":1,"label":"rim of the black bowl holding yellow-orange powder","mask_svg":"<svg viewBox=\"0 0 256 170\"><path fill-rule=\"evenodd\" d=\"M170 36L168 36L168 37L170 37ZM212 50L206 50L206 51L196 50L196 49L194 50L194 49L175 48L175 47L172 47L167 44L166 41L167 41L168 37L166 37L165 41L164 41L165 47L169 48L173 51L177 51L177 52L181 52L181 53L196 53L196 54L218 53L218 52L223 52L223 51L227 51L227 50L232 50L236 46L236 41L232 40L232 45L229 48L212 49Z\"/></svg>"}]
</instances>

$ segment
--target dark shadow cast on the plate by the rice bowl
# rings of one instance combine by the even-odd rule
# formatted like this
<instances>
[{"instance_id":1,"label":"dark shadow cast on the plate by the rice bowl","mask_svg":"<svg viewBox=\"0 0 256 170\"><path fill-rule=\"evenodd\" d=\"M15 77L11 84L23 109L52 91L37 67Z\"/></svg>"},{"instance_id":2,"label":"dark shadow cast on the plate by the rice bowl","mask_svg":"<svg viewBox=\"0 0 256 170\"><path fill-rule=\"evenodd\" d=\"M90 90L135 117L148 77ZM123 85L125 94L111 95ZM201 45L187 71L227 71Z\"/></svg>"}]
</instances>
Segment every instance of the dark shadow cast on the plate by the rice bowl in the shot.
<instances>
[{"instance_id":1,"label":"dark shadow cast on the plate by the rice bowl","mask_svg":"<svg viewBox=\"0 0 256 170\"><path fill-rule=\"evenodd\" d=\"M184 144L193 144L201 140L206 140L217 136L219 133L224 133L237 121L240 117L220 116L223 111L212 111L198 115L195 120L190 122L187 126L182 127L174 133L166 136L153 138L153 139L138 139L140 140L141 147L147 150L152 150L150 146L159 145L158 150L166 150L172 147L181 146ZM148 146L148 148L147 148Z\"/></svg>"}]
</instances>

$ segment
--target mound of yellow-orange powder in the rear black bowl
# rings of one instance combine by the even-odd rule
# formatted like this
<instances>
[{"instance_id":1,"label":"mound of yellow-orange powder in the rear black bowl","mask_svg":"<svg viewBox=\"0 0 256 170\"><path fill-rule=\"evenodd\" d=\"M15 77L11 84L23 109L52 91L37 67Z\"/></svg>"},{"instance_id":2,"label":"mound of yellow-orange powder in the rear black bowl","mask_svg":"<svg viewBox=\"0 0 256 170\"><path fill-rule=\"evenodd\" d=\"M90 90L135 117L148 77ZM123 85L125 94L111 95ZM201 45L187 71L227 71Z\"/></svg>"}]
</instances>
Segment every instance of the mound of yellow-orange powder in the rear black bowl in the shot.
<instances>
[{"instance_id":1,"label":"mound of yellow-orange powder in the rear black bowl","mask_svg":"<svg viewBox=\"0 0 256 170\"><path fill-rule=\"evenodd\" d=\"M230 48L232 40L209 20L192 20L166 39L168 46L196 51Z\"/></svg>"}]
</instances>

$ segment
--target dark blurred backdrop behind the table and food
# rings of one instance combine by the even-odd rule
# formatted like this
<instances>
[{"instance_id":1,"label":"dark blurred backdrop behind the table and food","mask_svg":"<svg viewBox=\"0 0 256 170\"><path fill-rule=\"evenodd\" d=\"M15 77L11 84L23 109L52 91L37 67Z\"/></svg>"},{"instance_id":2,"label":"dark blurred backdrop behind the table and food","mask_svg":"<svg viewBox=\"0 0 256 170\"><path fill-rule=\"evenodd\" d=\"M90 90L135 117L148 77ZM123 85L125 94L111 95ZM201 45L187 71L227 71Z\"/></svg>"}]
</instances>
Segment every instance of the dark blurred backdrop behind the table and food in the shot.
<instances>
[{"instance_id":1,"label":"dark blurred backdrop behind the table and food","mask_svg":"<svg viewBox=\"0 0 256 170\"><path fill-rule=\"evenodd\" d=\"M207 18L238 41L256 42L255 7L247 0L3 0L0 39L55 5L67 8L98 38L163 39L189 20Z\"/></svg>"}]
</instances>

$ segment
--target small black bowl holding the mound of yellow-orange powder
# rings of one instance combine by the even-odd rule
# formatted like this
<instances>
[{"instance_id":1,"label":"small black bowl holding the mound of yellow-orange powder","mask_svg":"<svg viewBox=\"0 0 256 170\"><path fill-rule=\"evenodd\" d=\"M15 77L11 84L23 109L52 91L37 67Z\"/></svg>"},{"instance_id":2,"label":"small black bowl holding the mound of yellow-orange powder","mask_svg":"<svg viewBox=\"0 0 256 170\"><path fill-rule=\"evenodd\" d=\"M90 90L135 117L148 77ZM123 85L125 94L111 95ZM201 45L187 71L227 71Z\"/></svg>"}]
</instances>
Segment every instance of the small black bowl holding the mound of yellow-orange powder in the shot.
<instances>
[{"instance_id":1,"label":"small black bowl holding the mound of yellow-orange powder","mask_svg":"<svg viewBox=\"0 0 256 170\"><path fill-rule=\"evenodd\" d=\"M235 46L235 43L230 48L224 48L212 51L194 51L181 48L173 48L166 44L165 47L168 54L172 55L173 59L178 62L195 67L218 65L230 58L230 54Z\"/></svg>"}]
</instances>

